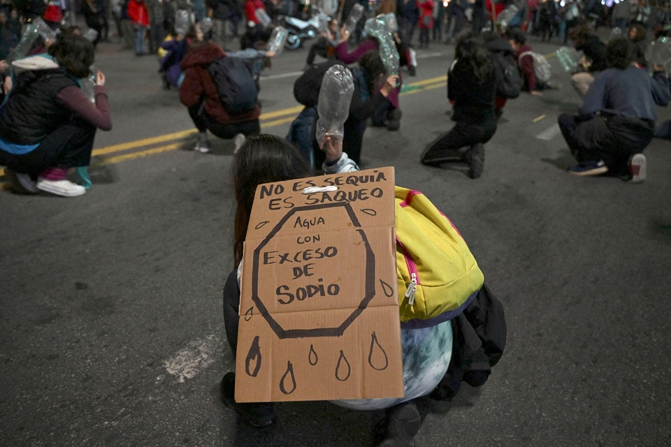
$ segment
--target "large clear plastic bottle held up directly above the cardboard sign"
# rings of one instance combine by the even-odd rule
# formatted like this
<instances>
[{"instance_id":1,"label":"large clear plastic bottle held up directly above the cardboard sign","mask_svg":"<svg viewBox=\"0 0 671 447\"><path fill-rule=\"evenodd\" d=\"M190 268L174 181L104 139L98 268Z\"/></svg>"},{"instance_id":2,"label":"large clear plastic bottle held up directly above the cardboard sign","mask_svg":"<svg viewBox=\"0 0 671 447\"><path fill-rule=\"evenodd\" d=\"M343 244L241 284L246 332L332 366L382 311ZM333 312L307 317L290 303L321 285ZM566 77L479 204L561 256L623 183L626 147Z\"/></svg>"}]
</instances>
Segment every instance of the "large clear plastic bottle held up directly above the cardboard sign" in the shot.
<instances>
[{"instance_id":1,"label":"large clear plastic bottle held up directly above the cardboard sign","mask_svg":"<svg viewBox=\"0 0 671 447\"><path fill-rule=\"evenodd\" d=\"M316 133L319 147L324 147L327 136L342 140L353 93L352 72L342 65L331 66L324 74L322 87L319 89L319 103L317 103L319 119Z\"/></svg>"}]
</instances>

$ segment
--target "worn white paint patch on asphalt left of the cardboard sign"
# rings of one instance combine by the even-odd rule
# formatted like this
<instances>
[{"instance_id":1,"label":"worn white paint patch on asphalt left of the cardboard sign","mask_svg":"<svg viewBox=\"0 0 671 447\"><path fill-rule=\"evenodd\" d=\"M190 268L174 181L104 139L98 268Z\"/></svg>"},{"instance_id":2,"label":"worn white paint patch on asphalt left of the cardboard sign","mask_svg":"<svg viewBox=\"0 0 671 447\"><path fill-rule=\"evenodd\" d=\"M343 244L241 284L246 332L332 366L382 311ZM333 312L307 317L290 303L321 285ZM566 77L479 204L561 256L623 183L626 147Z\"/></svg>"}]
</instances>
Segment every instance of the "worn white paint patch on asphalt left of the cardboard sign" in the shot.
<instances>
[{"instance_id":1,"label":"worn white paint patch on asphalt left of the cardboard sign","mask_svg":"<svg viewBox=\"0 0 671 447\"><path fill-rule=\"evenodd\" d=\"M168 374L177 377L179 383L187 379L193 379L201 369L205 369L215 361L215 353L221 346L221 340L217 335L208 335L203 339L189 342L185 348L180 349L174 356L164 360Z\"/></svg>"}]
</instances>

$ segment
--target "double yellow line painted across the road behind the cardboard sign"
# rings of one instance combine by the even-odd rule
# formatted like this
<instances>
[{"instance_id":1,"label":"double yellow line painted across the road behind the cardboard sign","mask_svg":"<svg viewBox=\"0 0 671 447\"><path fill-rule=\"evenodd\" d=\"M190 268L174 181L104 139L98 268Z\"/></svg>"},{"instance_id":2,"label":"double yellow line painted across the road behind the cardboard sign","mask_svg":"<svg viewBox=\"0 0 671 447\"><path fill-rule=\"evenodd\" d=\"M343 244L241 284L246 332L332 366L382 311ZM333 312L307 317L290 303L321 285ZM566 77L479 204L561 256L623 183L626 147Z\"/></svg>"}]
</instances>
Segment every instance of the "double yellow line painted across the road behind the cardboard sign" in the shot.
<instances>
[{"instance_id":1,"label":"double yellow line painted across the road behind the cardboard sign","mask_svg":"<svg viewBox=\"0 0 671 447\"><path fill-rule=\"evenodd\" d=\"M414 88L408 91L404 91L401 93L401 95L415 94L419 91L445 87L446 79L447 78L445 76L438 76L438 78L411 82L410 84L407 84L407 86ZM271 127L280 126L281 124L294 121L296 115L298 115L301 110L303 110L303 105L276 110L274 112L262 113L259 117L259 120L261 121L261 129L265 131ZM143 156L150 156L160 154L161 152L180 149L181 147L184 147L185 140L195 134L196 129L166 133L165 135L159 135L152 138L143 138L142 140L124 142L119 145L111 145L94 149L92 156L99 157L99 159L95 160L96 165L99 166L120 163L121 161L138 159ZM0 175L3 175L2 168L0 168Z\"/></svg>"}]
</instances>

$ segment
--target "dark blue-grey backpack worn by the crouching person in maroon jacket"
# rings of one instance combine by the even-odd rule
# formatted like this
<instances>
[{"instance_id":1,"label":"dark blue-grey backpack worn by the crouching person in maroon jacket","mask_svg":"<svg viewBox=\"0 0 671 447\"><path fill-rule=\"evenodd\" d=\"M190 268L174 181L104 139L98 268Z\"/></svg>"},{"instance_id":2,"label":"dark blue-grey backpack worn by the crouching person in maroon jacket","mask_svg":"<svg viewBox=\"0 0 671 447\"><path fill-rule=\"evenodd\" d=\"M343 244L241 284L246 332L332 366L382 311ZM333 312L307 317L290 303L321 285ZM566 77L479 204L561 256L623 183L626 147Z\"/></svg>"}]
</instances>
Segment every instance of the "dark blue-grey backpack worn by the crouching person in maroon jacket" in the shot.
<instances>
[{"instance_id":1,"label":"dark blue-grey backpack worn by the crouching person in maroon jacket","mask_svg":"<svg viewBox=\"0 0 671 447\"><path fill-rule=\"evenodd\" d=\"M230 115L254 110L259 91L252 72L239 57L222 57L208 66L219 100Z\"/></svg>"}]
</instances>

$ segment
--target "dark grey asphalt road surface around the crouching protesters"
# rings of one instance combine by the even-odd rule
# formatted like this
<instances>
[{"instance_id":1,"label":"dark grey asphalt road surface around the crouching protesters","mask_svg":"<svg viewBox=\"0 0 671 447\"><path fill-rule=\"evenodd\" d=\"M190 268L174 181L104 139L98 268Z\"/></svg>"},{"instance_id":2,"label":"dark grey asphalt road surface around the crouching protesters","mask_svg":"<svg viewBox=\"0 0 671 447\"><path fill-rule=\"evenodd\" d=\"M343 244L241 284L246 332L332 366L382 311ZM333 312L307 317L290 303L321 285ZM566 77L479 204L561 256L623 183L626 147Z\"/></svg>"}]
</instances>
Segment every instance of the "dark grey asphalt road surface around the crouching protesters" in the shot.
<instances>
[{"instance_id":1,"label":"dark grey asphalt road surface around the crouching protesters","mask_svg":"<svg viewBox=\"0 0 671 447\"><path fill-rule=\"evenodd\" d=\"M579 99L556 71L563 89L508 103L480 179L421 166L452 125L453 52L419 50L401 130L368 129L363 167L394 166L454 221L505 305L508 343L484 387L424 402L417 446L671 445L670 143L649 146L642 184L568 175L556 116ZM286 134L306 56L264 72L264 131ZM232 142L187 150L193 126L154 57L101 44L96 66L114 129L96 137L92 189L0 191L0 446L371 445L379 412L280 404L259 431L219 402Z\"/></svg>"}]
</instances>

